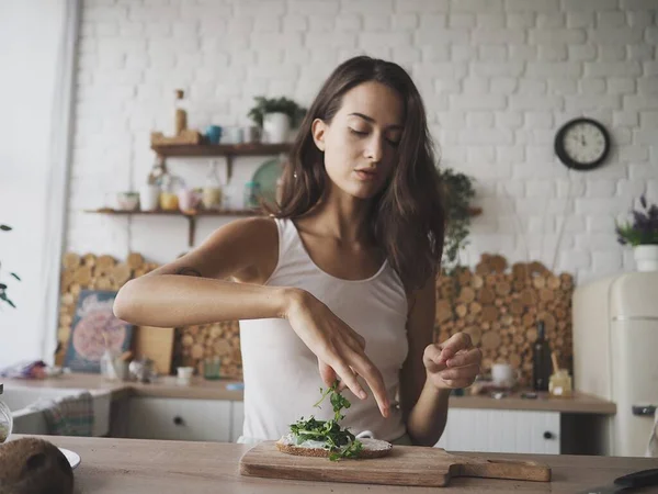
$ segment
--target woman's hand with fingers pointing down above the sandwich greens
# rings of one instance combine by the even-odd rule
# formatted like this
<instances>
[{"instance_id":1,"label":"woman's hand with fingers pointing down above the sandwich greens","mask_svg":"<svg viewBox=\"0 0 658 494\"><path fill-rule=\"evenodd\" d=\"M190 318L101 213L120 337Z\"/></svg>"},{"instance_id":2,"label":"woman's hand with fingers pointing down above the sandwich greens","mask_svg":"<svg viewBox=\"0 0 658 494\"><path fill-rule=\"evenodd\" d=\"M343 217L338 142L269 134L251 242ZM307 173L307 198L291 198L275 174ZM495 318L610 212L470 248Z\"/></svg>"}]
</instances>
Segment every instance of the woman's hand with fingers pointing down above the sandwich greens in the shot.
<instances>
[{"instance_id":1,"label":"woman's hand with fingers pointing down above the sandwich greens","mask_svg":"<svg viewBox=\"0 0 658 494\"><path fill-rule=\"evenodd\" d=\"M304 290L292 290L285 317L302 341L318 357L320 375L327 386L338 377L356 396L365 391L356 379L361 375L373 391L379 411L388 417L389 403L384 379L365 355L365 340L327 305Z\"/></svg>"}]
</instances>

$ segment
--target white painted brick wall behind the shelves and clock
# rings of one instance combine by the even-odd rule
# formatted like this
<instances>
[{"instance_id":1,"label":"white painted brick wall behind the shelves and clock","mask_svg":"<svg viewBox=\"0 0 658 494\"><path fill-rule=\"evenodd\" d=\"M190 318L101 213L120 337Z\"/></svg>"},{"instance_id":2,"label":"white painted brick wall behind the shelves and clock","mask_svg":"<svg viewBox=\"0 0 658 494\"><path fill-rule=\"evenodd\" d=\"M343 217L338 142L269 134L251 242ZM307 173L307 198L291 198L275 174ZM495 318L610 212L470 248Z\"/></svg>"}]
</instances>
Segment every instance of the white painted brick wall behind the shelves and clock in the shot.
<instances>
[{"instance_id":1,"label":"white painted brick wall behind the shelves and clock","mask_svg":"<svg viewBox=\"0 0 658 494\"><path fill-rule=\"evenodd\" d=\"M188 91L192 125L246 124L256 94L309 104L338 63L367 53L410 70L442 166L477 179L485 212L466 262L556 258L580 282L633 269L613 218L643 192L658 200L657 19L655 0L86 0L68 248L160 262L186 249L182 218L81 212L144 181L173 89ZM587 173L553 153L579 115L614 141ZM236 165L234 197L260 161ZM204 165L171 160L192 186ZM202 220L197 243L223 222Z\"/></svg>"}]
</instances>

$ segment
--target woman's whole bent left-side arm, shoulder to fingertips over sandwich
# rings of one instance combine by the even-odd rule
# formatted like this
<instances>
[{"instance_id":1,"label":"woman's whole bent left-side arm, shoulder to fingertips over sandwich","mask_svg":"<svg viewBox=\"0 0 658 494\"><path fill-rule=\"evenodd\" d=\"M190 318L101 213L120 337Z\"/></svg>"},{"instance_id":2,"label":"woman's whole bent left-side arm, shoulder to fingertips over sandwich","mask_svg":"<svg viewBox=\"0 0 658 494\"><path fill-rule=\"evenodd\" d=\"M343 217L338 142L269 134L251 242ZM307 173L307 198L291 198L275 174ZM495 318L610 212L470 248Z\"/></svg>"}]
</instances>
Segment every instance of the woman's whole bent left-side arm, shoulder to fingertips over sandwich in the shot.
<instances>
[{"instance_id":1,"label":"woman's whole bent left-side arm, shoulder to fingertips over sandwich","mask_svg":"<svg viewBox=\"0 0 658 494\"><path fill-rule=\"evenodd\" d=\"M317 356L327 385L338 377L356 396L365 398L358 381L362 375L382 415L388 416L382 373L365 355L361 335L310 293L263 285L276 267L277 245L272 220L229 223L197 249L127 282L116 296L114 314L133 324L161 327L286 318Z\"/></svg>"}]
</instances>

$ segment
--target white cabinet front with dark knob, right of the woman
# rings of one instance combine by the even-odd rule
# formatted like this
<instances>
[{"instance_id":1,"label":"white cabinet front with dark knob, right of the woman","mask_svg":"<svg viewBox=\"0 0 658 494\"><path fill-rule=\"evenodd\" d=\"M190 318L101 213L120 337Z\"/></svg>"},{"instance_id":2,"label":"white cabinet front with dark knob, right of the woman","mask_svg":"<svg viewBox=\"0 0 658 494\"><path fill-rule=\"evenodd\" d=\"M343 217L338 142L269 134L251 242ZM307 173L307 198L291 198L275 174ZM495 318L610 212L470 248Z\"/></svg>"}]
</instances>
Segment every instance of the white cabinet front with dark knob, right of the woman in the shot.
<instances>
[{"instance_id":1,"label":"white cabinet front with dark knob, right of the woman","mask_svg":"<svg viewBox=\"0 0 658 494\"><path fill-rule=\"evenodd\" d=\"M560 414L450 408L436 446L450 451L559 454Z\"/></svg>"}]
</instances>

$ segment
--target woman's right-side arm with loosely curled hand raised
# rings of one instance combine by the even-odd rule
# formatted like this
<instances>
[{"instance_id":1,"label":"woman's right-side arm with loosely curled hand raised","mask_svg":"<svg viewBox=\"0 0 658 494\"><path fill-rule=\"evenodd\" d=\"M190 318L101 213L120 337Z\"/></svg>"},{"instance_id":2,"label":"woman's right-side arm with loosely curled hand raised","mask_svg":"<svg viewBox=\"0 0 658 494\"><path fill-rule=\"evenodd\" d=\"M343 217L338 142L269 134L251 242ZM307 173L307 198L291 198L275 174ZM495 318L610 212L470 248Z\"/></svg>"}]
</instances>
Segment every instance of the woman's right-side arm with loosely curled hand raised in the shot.
<instances>
[{"instance_id":1,"label":"woman's right-side arm with loosely curled hand raised","mask_svg":"<svg viewBox=\"0 0 658 494\"><path fill-rule=\"evenodd\" d=\"M407 323L409 355L400 372L400 405L407 433L416 445L434 446L445 428L451 390L469 386L479 373L481 352L458 333L433 344L436 308L432 276L411 296Z\"/></svg>"}]
</instances>

